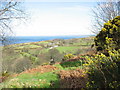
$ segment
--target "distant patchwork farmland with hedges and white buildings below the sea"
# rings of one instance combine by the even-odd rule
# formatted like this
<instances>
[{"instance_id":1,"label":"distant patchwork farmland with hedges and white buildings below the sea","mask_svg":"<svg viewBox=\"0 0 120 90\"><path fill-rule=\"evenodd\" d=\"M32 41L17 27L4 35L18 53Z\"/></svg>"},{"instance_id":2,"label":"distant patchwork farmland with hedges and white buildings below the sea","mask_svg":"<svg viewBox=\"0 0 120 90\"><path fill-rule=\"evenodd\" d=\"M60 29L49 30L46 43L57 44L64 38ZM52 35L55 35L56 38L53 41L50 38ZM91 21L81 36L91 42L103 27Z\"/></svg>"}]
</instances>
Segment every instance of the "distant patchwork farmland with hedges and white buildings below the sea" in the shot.
<instances>
[{"instance_id":1,"label":"distant patchwork farmland with hedges and white buildings below the sea","mask_svg":"<svg viewBox=\"0 0 120 90\"><path fill-rule=\"evenodd\" d=\"M14 44L3 47L3 69L14 72L14 68L25 69L49 62L51 57L60 61L66 54L84 54L93 44L93 37L75 39L56 39L41 42ZM58 51L50 52L50 49ZM58 55L57 55L58 54ZM56 55L56 56L55 56ZM29 66L25 66L29 63ZM16 72L16 71L15 71ZM20 71L19 71L20 72Z\"/></svg>"}]
</instances>

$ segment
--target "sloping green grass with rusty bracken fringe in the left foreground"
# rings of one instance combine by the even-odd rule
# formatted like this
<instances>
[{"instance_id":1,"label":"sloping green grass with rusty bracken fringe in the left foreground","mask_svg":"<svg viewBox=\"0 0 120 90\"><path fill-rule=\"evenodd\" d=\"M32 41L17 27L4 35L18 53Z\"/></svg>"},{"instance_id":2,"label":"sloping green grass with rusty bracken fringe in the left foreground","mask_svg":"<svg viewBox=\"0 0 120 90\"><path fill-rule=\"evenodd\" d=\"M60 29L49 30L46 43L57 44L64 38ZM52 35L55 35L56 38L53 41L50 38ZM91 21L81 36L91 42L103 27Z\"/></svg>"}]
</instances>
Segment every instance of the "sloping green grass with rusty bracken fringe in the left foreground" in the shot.
<instances>
[{"instance_id":1,"label":"sloping green grass with rusty bracken fringe in the left foreground","mask_svg":"<svg viewBox=\"0 0 120 90\"><path fill-rule=\"evenodd\" d=\"M76 61L74 63L80 63ZM61 71L81 69L82 66L75 65L73 62L63 64L55 64L53 66L45 65L22 72L17 75L12 75L0 87L4 88L60 88ZM73 65L72 65L73 64ZM68 67L71 66L72 67ZM49 69L49 71L47 71ZM67 74L67 73L66 73Z\"/></svg>"}]
</instances>

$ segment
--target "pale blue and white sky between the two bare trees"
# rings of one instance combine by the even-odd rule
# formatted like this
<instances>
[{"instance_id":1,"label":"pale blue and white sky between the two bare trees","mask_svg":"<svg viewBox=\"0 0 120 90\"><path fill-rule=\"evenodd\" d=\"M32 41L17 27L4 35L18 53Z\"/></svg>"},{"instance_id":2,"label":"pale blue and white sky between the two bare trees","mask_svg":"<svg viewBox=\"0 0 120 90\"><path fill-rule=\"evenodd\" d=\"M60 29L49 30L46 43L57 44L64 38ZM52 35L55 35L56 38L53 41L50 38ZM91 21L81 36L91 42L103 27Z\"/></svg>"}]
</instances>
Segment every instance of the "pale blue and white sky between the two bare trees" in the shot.
<instances>
[{"instance_id":1,"label":"pale blue and white sky between the two bare trees","mask_svg":"<svg viewBox=\"0 0 120 90\"><path fill-rule=\"evenodd\" d=\"M16 36L90 35L94 0L27 0L30 18L14 27ZM17 22L14 22L14 25Z\"/></svg>"}]
</instances>

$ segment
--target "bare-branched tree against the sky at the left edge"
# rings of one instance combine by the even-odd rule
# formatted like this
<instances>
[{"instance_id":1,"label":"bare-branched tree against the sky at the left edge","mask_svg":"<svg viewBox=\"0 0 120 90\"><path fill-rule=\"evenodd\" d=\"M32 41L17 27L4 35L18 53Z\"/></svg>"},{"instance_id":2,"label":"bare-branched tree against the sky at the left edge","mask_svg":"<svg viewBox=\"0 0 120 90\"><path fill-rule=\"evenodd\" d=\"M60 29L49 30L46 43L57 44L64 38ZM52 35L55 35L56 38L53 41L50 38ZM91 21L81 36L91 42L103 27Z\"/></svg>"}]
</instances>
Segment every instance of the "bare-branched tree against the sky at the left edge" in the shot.
<instances>
[{"instance_id":1,"label":"bare-branched tree against the sky at the left edge","mask_svg":"<svg viewBox=\"0 0 120 90\"><path fill-rule=\"evenodd\" d=\"M13 34L12 22L14 20L25 19L24 10L20 7L22 2L19 1L0 1L0 43L2 45L7 45L10 41L10 36Z\"/></svg>"}]
</instances>

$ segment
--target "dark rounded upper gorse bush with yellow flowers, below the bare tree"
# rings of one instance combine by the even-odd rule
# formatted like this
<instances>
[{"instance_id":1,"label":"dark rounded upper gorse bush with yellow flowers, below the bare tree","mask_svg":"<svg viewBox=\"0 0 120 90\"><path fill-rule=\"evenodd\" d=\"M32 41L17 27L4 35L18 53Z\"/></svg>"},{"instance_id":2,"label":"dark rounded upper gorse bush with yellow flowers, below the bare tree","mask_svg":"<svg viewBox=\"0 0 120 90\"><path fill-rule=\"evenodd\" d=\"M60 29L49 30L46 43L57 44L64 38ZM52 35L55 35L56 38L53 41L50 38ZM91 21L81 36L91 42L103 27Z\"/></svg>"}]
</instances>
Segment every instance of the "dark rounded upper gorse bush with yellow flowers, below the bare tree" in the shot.
<instances>
[{"instance_id":1,"label":"dark rounded upper gorse bush with yellow flowers, below the bare tree","mask_svg":"<svg viewBox=\"0 0 120 90\"><path fill-rule=\"evenodd\" d=\"M105 23L94 41L97 51L108 49L110 43L114 45L112 47L116 50L120 49L120 16Z\"/></svg>"}]
</instances>

